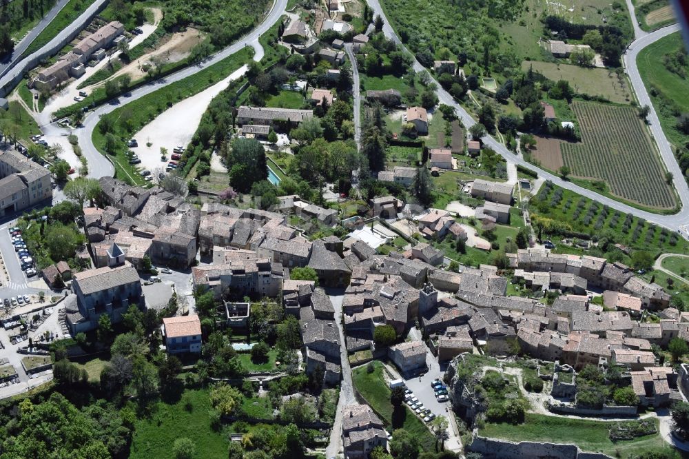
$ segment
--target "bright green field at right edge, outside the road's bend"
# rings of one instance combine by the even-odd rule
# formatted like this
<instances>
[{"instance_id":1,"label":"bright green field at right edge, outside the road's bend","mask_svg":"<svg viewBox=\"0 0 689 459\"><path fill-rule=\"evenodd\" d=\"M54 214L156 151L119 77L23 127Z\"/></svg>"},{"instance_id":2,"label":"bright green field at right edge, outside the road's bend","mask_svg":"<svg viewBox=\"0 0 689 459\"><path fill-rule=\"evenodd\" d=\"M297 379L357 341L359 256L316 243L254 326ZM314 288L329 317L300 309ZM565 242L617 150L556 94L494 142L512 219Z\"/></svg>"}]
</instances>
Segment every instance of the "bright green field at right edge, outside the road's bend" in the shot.
<instances>
[{"instance_id":1,"label":"bright green field at right edge, outside the road's bend","mask_svg":"<svg viewBox=\"0 0 689 459\"><path fill-rule=\"evenodd\" d=\"M646 46L639 52L639 74L648 88L651 101L668 140L675 145L689 141L689 135L679 132L675 125L677 114L689 112L689 78L670 72L664 64L667 54L683 48L681 34L676 32ZM689 65L684 66L689 71Z\"/></svg>"}]
</instances>

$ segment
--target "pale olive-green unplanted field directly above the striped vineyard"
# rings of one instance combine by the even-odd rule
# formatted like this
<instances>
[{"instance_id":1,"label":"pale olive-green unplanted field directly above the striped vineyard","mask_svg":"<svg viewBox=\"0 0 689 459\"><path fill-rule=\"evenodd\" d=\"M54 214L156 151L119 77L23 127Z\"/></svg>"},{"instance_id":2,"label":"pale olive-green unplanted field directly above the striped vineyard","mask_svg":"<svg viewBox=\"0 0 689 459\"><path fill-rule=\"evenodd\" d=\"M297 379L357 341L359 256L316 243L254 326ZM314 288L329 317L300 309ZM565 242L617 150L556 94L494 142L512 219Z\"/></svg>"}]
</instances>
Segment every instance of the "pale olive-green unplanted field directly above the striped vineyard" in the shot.
<instances>
[{"instance_id":1,"label":"pale olive-green unplanted field directly above the striped vineyard","mask_svg":"<svg viewBox=\"0 0 689 459\"><path fill-rule=\"evenodd\" d=\"M615 72L604 68L582 68L578 65L524 61L522 70L533 68L553 81L569 81L572 88L590 96L601 96L615 103L628 103L632 94L626 76L620 81Z\"/></svg>"}]
</instances>

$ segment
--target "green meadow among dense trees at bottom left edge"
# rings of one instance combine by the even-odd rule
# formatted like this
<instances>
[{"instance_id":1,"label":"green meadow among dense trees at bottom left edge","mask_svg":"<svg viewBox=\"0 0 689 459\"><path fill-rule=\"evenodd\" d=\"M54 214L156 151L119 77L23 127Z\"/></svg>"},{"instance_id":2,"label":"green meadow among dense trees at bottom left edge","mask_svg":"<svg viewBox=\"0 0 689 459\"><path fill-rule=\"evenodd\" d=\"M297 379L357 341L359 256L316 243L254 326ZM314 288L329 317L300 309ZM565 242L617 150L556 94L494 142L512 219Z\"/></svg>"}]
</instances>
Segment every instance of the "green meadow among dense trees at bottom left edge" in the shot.
<instances>
[{"instance_id":1,"label":"green meadow among dense trees at bottom left edge","mask_svg":"<svg viewBox=\"0 0 689 459\"><path fill-rule=\"evenodd\" d=\"M184 401L172 405L157 402L150 418L136 421L131 459L168 459L172 457L174 440L182 437L194 441L197 458L227 456L225 434L211 429L208 390L187 390L182 400L185 398L192 403L191 411L185 409Z\"/></svg>"}]
</instances>

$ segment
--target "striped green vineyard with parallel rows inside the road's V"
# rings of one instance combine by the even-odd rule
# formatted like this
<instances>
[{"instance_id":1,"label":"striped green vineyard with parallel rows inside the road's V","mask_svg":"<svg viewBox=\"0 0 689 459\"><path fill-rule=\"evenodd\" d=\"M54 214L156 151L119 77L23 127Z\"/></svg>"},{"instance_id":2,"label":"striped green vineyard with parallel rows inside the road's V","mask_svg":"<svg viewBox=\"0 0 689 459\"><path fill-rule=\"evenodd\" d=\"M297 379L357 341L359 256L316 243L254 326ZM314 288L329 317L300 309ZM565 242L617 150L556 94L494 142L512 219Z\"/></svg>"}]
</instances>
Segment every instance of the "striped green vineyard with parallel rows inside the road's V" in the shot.
<instances>
[{"instance_id":1,"label":"striped green vineyard with parallel rows inside the road's V","mask_svg":"<svg viewBox=\"0 0 689 459\"><path fill-rule=\"evenodd\" d=\"M675 207L665 169L637 109L584 102L572 105L582 142L563 143L562 156L573 176L601 179L612 194L640 205Z\"/></svg>"}]
</instances>

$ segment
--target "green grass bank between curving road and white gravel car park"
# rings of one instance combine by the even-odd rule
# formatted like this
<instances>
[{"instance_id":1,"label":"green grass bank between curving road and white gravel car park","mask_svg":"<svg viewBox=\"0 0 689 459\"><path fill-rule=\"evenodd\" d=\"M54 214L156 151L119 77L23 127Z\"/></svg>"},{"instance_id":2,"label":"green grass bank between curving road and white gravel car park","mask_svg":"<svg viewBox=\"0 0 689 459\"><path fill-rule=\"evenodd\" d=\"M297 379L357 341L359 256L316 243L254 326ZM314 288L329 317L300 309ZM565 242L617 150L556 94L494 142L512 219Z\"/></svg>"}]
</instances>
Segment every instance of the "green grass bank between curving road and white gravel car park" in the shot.
<instances>
[{"instance_id":1,"label":"green grass bank between curving road and white gravel car park","mask_svg":"<svg viewBox=\"0 0 689 459\"><path fill-rule=\"evenodd\" d=\"M198 92L205 90L240 68L251 58L252 53L253 50L251 48L244 48L192 76L187 76L185 79L176 81L165 86L165 88L161 88L113 110L105 116L116 120L114 123L115 136L123 140L129 139L134 132L138 132L144 125L153 121L156 116L163 113L174 103L198 94ZM129 119L128 128L123 128L123 123L121 123L123 116ZM93 132L93 142L99 151L105 154L105 136L97 128L97 125ZM136 167L129 164L126 152L125 143L121 142L115 155L107 155L114 161L115 176L123 181L144 185L147 182L143 181Z\"/></svg>"}]
</instances>

